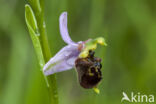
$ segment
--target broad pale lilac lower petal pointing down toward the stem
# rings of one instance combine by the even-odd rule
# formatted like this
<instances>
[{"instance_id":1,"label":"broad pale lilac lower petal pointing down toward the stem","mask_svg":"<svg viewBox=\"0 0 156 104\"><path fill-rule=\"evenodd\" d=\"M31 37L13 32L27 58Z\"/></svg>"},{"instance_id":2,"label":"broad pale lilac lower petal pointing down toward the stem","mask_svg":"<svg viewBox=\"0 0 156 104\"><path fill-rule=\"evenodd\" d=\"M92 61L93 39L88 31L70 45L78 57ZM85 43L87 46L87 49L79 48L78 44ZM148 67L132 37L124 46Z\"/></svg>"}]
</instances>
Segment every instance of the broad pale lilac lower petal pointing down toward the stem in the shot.
<instances>
[{"instance_id":1,"label":"broad pale lilac lower petal pointing down toward the stem","mask_svg":"<svg viewBox=\"0 0 156 104\"><path fill-rule=\"evenodd\" d=\"M44 74L50 75L72 69L75 66L75 60L79 53L77 46L65 46L47 62L43 68Z\"/></svg>"}]
</instances>

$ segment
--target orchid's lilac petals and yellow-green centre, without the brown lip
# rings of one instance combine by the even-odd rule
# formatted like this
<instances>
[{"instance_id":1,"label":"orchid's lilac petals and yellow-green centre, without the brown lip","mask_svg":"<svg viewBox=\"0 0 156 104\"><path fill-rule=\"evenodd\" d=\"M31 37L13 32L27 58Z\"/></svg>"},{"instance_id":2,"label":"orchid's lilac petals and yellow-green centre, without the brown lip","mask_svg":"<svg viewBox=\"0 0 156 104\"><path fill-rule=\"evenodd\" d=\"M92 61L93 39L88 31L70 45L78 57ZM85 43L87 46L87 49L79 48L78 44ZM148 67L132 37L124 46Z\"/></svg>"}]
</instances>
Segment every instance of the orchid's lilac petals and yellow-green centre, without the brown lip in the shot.
<instances>
[{"instance_id":1,"label":"orchid's lilac petals and yellow-green centre, without the brown lip","mask_svg":"<svg viewBox=\"0 0 156 104\"><path fill-rule=\"evenodd\" d=\"M87 41L72 41L67 28L67 12L60 15L59 26L61 37L67 45L45 64L43 68L45 75L73 69L75 61L78 58L86 58L90 50L96 49L97 44L106 45L102 37Z\"/></svg>"}]
</instances>

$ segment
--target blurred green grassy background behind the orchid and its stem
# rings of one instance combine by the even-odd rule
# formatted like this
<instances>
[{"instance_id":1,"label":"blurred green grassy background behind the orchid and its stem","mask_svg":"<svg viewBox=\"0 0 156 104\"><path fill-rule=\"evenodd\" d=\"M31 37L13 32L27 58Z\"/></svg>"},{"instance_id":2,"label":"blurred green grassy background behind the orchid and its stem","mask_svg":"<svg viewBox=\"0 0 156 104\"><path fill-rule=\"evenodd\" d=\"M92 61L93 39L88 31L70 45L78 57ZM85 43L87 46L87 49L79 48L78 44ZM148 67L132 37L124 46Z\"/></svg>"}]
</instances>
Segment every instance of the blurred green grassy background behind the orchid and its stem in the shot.
<instances>
[{"instance_id":1,"label":"blurred green grassy background behind the orchid and its stem","mask_svg":"<svg viewBox=\"0 0 156 104\"><path fill-rule=\"evenodd\" d=\"M0 104L48 104L48 92L24 19L24 0L0 0ZM51 53L66 44L59 16L68 12L74 41L103 36L97 95L75 70L57 74L60 104L120 104L122 92L156 95L156 0L45 0Z\"/></svg>"}]
</instances>

